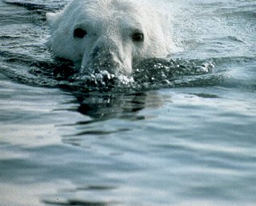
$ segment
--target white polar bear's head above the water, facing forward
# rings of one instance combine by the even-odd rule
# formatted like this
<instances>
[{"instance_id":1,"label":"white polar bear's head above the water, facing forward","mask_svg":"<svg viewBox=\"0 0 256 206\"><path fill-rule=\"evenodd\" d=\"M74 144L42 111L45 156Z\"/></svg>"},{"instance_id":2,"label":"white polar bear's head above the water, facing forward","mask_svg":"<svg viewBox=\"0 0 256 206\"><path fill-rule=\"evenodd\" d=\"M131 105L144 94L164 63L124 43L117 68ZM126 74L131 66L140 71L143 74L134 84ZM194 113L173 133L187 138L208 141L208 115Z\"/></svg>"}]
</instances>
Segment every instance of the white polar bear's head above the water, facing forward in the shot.
<instances>
[{"instance_id":1,"label":"white polar bear's head above the water, facing forward","mask_svg":"<svg viewBox=\"0 0 256 206\"><path fill-rule=\"evenodd\" d=\"M138 1L73 0L46 19L47 46L74 61L81 73L103 69L127 75L134 63L170 53L166 18Z\"/></svg>"}]
</instances>

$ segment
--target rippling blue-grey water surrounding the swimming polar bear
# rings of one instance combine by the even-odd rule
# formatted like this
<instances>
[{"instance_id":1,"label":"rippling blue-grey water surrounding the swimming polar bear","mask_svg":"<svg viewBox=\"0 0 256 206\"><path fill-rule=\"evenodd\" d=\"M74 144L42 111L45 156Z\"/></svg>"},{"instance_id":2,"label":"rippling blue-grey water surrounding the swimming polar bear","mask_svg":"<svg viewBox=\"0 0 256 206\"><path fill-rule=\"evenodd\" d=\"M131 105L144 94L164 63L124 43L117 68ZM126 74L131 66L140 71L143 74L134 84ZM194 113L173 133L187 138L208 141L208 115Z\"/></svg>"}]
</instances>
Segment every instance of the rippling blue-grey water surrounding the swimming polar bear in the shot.
<instances>
[{"instance_id":1,"label":"rippling blue-grey water surrounding the swimming polar bear","mask_svg":"<svg viewBox=\"0 0 256 206\"><path fill-rule=\"evenodd\" d=\"M155 2L177 48L114 88L66 73L43 45L45 13L66 2L8 2L1 205L256 204L254 0Z\"/></svg>"}]
</instances>

